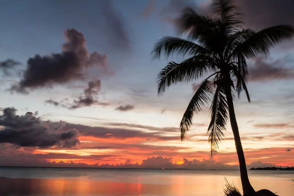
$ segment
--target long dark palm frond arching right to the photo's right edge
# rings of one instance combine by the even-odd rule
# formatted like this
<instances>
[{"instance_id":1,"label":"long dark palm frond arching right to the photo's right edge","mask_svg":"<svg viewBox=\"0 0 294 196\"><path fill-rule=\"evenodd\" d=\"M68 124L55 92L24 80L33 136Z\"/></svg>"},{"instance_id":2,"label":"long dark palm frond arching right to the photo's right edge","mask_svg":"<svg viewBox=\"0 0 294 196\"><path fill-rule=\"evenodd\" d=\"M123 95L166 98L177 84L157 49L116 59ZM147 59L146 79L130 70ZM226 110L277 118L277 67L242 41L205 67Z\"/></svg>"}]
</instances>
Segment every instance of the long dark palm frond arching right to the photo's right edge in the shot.
<instances>
[{"instance_id":1,"label":"long dark palm frond arching right to the photo's right edge","mask_svg":"<svg viewBox=\"0 0 294 196\"><path fill-rule=\"evenodd\" d=\"M292 38L293 35L293 26L272 26L255 33L245 42L240 43L232 52L232 55L238 56L240 53L243 53L246 58L254 58L260 54L268 54L269 49L286 39Z\"/></svg>"}]
</instances>

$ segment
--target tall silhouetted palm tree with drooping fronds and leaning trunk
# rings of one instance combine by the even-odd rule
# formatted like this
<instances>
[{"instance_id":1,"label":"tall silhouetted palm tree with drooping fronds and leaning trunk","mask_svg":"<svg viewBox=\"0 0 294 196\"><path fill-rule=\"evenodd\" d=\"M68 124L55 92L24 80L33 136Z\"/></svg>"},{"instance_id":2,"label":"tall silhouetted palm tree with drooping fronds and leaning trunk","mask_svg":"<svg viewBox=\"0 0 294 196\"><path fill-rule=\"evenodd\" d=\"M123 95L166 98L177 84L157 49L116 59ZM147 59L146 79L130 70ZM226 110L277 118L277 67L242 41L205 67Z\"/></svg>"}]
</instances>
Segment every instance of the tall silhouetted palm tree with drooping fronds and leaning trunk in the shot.
<instances>
[{"instance_id":1,"label":"tall silhouetted palm tree with drooping fronds and leaning trunk","mask_svg":"<svg viewBox=\"0 0 294 196\"><path fill-rule=\"evenodd\" d=\"M192 8L182 11L176 24L179 35L188 39L166 36L159 40L152 51L154 58L180 54L187 57L181 63L170 61L158 74L158 94L178 82L190 82L207 73L191 99L180 123L181 140L192 125L201 108L211 101L211 122L208 126L211 155L213 156L224 137L230 120L237 149L242 187L245 196L254 195L246 170L245 156L234 111L234 99L239 98L246 87L246 59L268 54L269 49L294 35L289 25L277 25L259 32L243 28L243 17L233 0L216 0L214 15L202 16Z\"/></svg>"}]
</instances>

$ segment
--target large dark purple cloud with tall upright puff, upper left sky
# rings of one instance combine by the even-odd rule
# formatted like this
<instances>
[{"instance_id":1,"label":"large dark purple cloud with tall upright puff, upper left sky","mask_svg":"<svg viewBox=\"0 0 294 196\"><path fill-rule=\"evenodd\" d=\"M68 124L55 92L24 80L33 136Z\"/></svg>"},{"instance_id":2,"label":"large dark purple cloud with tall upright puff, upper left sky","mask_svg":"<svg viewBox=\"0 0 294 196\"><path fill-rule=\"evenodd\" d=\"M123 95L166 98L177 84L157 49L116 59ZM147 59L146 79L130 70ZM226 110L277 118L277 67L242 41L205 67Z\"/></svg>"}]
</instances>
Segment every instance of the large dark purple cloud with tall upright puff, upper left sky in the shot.
<instances>
[{"instance_id":1,"label":"large dark purple cloud with tall upright puff, upper left sky","mask_svg":"<svg viewBox=\"0 0 294 196\"><path fill-rule=\"evenodd\" d=\"M83 33L72 28L65 30L64 36L66 43L61 53L43 57L37 54L27 60L23 78L11 87L11 91L28 93L28 90L85 79L90 67L106 70L107 56L98 52L90 54Z\"/></svg>"}]
</instances>

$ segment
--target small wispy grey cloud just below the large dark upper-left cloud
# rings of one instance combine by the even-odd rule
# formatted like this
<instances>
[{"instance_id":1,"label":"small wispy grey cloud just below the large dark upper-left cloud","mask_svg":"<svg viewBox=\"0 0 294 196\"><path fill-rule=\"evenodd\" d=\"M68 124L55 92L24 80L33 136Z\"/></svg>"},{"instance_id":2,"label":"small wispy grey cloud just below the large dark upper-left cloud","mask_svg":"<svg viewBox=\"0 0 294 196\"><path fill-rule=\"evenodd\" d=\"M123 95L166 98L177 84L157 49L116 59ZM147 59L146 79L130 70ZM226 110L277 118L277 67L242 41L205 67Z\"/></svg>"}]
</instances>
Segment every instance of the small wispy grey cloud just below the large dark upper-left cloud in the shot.
<instances>
[{"instance_id":1,"label":"small wispy grey cloud just below the large dark upper-left cloud","mask_svg":"<svg viewBox=\"0 0 294 196\"><path fill-rule=\"evenodd\" d=\"M77 99L73 99L72 103L65 102L68 99L64 99L60 102L52 100L52 99L48 99L45 101L45 103L54 105L56 107L61 106L71 110L77 109L80 107L90 107L92 105L108 105L108 103L98 101L97 95L100 92L100 88L101 88L101 81L99 79L95 81L90 81L88 82L88 87L84 89L84 95L79 96Z\"/></svg>"}]
</instances>

